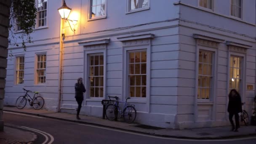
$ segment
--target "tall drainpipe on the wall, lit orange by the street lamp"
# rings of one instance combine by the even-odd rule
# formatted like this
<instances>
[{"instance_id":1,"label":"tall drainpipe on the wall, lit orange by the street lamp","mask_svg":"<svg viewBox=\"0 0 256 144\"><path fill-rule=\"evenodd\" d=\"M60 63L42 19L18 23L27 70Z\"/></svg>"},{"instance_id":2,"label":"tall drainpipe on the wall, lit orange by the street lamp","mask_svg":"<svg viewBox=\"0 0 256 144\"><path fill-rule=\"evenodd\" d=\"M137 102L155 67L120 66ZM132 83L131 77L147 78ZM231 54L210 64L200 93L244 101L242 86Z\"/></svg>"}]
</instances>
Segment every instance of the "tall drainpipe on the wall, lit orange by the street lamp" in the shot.
<instances>
[{"instance_id":1,"label":"tall drainpipe on the wall, lit orange by the street lamp","mask_svg":"<svg viewBox=\"0 0 256 144\"><path fill-rule=\"evenodd\" d=\"M61 5L63 5L64 0L61 0ZM62 36L62 27L63 20L60 22L60 33L59 33L59 96L58 96L58 106L57 112L61 112L61 101L62 101L62 84L63 84L63 55L64 55L64 47L63 47L63 36Z\"/></svg>"}]
</instances>

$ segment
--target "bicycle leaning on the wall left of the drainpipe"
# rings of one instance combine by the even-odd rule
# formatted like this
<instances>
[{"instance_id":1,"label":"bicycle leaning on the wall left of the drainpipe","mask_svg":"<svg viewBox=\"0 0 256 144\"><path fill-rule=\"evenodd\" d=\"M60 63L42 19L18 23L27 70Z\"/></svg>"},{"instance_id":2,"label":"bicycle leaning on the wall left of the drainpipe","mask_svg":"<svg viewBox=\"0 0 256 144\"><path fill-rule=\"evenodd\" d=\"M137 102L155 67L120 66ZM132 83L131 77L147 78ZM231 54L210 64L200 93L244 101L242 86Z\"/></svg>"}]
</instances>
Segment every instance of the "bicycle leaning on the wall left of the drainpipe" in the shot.
<instances>
[{"instance_id":1,"label":"bicycle leaning on the wall left of the drainpipe","mask_svg":"<svg viewBox=\"0 0 256 144\"><path fill-rule=\"evenodd\" d=\"M42 109L45 101L44 101L43 97L38 96L39 92L35 91L33 98L31 98L29 96L28 92L32 92L32 91L28 91L25 88L23 88L23 90L26 91L26 94L24 96L18 97L18 99L16 100L16 107L18 109L23 109L26 106L27 101L29 101L29 105L31 107L33 107L34 109L36 109L36 110ZM35 95L37 95L37 96L35 96Z\"/></svg>"}]
</instances>

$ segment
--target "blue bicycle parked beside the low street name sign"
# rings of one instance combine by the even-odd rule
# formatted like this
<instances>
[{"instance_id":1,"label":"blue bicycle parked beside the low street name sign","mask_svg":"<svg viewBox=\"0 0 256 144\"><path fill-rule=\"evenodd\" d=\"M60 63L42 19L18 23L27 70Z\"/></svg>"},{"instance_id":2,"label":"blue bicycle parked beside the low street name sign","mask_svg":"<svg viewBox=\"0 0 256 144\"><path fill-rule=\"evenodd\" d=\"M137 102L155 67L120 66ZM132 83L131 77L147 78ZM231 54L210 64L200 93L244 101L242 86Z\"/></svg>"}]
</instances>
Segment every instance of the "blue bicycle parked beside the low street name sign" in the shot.
<instances>
[{"instance_id":1,"label":"blue bicycle parked beside the low street name sign","mask_svg":"<svg viewBox=\"0 0 256 144\"><path fill-rule=\"evenodd\" d=\"M118 101L117 96L109 96L110 98L115 98L114 104L109 104L106 107L106 117L108 120L117 120L119 117L123 117L125 122L127 123L133 123L136 119L137 111L135 109L135 106L133 104L127 104L127 100L131 98L126 98L124 101ZM119 107L119 103L124 103L123 111Z\"/></svg>"}]
</instances>

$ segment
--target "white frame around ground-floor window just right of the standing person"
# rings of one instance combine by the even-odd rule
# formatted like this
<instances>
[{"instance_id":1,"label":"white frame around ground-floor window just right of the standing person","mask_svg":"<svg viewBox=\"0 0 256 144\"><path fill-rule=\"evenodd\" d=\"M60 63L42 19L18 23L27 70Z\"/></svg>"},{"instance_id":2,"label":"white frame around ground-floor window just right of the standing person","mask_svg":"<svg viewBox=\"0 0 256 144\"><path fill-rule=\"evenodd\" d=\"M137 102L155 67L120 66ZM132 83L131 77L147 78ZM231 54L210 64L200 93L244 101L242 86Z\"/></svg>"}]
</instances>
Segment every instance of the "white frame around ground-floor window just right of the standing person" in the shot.
<instances>
[{"instance_id":1,"label":"white frame around ground-floor window just right of the standing person","mask_svg":"<svg viewBox=\"0 0 256 144\"><path fill-rule=\"evenodd\" d=\"M88 69L88 67L90 66L90 56L91 55L94 55L94 54L103 54L103 97L91 97L90 96L90 80L89 80L89 74L90 74L90 69ZM85 66L84 66L84 69L85 69L85 88L86 88L86 93L85 93L85 101L101 101L102 99L105 99L106 98L106 60L107 60L107 57L106 57L106 50L105 48L104 49L99 49L99 50L85 50L84 51L84 58L85 58Z\"/></svg>"}]
</instances>

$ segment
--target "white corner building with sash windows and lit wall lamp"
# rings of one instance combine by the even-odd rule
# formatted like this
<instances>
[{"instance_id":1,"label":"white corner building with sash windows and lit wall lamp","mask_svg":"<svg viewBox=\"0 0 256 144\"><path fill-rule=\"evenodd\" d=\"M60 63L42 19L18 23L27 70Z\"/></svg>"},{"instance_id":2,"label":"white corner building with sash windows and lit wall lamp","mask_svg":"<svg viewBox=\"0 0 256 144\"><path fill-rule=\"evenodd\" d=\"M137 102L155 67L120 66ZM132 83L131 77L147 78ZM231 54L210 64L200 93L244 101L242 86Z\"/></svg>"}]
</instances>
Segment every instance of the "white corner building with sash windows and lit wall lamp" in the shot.
<instances>
[{"instance_id":1,"label":"white corner building with sash windows and lit wall lamp","mask_svg":"<svg viewBox=\"0 0 256 144\"><path fill-rule=\"evenodd\" d=\"M76 21L61 19L62 3L36 0L33 43L27 51L9 46L4 104L15 105L26 88L40 92L43 109L75 114L74 85L82 77L81 115L102 117L101 101L118 96L131 97L136 123L229 125L235 88L251 116L255 0L66 0L68 19Z\"/></svg>"}]
</instances>

